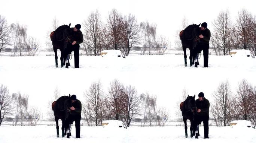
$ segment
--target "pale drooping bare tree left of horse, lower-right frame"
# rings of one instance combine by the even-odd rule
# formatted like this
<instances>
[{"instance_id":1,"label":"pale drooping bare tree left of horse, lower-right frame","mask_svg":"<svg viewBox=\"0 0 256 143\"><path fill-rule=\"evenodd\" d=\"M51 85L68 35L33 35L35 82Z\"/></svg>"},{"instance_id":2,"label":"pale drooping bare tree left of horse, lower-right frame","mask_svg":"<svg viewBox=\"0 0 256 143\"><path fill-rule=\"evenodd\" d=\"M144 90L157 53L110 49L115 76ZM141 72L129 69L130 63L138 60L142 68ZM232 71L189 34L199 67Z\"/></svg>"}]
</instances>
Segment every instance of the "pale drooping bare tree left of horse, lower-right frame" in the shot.
<instances>
[{"instance_id":1,"label":"pale drooping bare tree left of horse, lower-right frame","mask_svg":"<svg viewBox=\"0 0 256 143\"><path fill-rule=\"evenodd\" d=\"M156 96L150 96L149 93L141 94L140 99L142 101L142 106L144 108L144 125L147 120L149 120L149 125L152 125L154 120L155 110L156 110Z\"/></svg>"}]
</instances>

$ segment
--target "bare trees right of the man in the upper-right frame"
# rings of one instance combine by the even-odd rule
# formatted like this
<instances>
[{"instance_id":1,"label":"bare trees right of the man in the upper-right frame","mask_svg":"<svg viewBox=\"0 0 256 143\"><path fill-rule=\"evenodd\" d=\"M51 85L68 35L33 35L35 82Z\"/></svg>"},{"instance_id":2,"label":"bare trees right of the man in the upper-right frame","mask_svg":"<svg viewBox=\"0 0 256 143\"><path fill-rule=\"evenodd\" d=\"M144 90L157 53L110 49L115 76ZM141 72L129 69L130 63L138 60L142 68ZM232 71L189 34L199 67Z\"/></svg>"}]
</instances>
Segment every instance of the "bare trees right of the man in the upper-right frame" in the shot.
<instances>
[{"instance_id":1,"label":"bare trees right of the man in the upper-right frame","mask_svg":"<svg viewBox=\"0 0 256 143\"><path fill-rule=\"evenodd\" d=\"M229 10L221 11L213 20L211 44L216 55L229 54L234 49L250 50L256 55L256 16L246 9L238 12L232 22Z\"/></svg>"}]
</instances>

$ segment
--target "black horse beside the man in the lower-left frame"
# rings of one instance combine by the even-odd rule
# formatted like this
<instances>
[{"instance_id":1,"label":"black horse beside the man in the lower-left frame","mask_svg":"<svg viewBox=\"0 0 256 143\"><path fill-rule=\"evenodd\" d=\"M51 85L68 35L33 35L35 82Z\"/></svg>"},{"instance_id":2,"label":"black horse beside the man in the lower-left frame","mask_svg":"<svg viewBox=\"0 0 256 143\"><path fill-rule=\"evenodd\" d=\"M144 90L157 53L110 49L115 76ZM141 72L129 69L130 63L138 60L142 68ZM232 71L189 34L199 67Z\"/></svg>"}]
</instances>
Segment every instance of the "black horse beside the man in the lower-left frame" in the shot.
<instances>
[{"instance_id":1,"label":"black horse beside the man in the lower-left frame","mask_svg":"<svg viewBox=\"0 0 256 143\"><path fill-rule=\"evenodd\" d=\"M69 109L71 107L72 101L69 96L61 96L57 101L52 102L52 110L54 111L54 119L56 122L56 129L57 129L57 137L59 137L59 124L58 120L61 119L62 121L62 137L67 134L67 122L68 122L68 115Z\"/></svg>"}]
</instances>

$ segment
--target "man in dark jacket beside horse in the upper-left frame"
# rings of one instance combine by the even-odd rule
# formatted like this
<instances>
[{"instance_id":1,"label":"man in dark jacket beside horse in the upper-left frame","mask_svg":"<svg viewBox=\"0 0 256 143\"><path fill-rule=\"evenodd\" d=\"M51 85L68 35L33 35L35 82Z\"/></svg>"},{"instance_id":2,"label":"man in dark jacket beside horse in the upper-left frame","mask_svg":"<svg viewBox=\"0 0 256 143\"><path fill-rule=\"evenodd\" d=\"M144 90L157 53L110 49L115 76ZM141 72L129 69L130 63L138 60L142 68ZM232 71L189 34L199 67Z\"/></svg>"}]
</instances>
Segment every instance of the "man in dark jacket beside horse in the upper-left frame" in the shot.
<instances>
[{"instance_id":1,"label":"man in dark jacket beside horse in the upper-left frame","mask_svg":"<svg viewBox=\"0 0 256 143\"><path fill-rule=\"evenodd\" d=\"M74 51L74 67L79 68L79 48L82 42L83 42L83 34L80 31L81 25L77 24L74 26L74 28L71 28L73 30L73 42L71 45L68 45L67 48L67 54L70 54L72 51ZM66 66L68 68L68 66Z\"/></svg>"}]
</instances>

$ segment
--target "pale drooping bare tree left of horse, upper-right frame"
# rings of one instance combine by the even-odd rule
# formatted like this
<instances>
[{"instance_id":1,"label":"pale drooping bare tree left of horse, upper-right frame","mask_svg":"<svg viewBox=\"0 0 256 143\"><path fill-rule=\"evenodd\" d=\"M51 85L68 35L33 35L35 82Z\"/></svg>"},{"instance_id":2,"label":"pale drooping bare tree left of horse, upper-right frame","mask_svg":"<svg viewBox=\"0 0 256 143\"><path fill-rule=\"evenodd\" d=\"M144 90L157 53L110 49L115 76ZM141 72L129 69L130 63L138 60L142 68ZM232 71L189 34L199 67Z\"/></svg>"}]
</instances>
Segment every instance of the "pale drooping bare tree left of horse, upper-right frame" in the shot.
<instances>
[{"instance_id":1,"label":"pale drooping bare tree left of horse, upper-right frame","mask_svg":"<svg viewBox=\"0 0 256 143\"><path fill-rule=\"evenodd\" d=\"M141 22L140 28L144 37L142 54L145 54L147 49L149 49L149 54L151 54L151 50L156 37L156 25L150 25L149 22Z\"/></svg>"}]
</instances>

